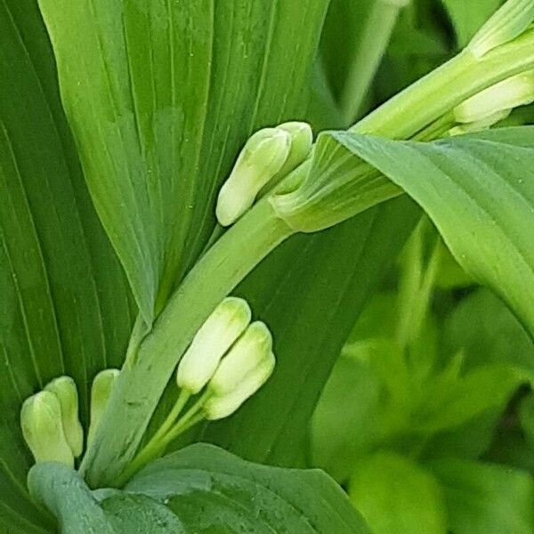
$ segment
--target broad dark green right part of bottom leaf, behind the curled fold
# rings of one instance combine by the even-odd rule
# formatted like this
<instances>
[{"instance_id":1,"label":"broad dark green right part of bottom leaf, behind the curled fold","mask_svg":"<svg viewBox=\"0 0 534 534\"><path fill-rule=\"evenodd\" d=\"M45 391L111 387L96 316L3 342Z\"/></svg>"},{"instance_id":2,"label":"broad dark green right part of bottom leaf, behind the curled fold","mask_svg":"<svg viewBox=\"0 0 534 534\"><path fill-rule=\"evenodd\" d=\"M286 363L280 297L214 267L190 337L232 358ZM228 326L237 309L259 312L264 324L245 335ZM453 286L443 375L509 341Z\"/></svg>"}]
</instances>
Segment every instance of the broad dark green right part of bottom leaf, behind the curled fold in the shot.
<instances>
[{"instance_id":1,"label":"broad dark green right part of bottom leaf, behind the curled fold","mask_svg":"<svg viewBox=\"0 0 534 534\"><path fill-rule=\"evenodd\" d=\"M148 465L125 491L165 502L191 531L368 533L325 473L254 465L209 445Z\"/></svg>"}]
</instances>

